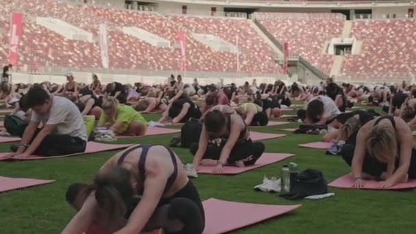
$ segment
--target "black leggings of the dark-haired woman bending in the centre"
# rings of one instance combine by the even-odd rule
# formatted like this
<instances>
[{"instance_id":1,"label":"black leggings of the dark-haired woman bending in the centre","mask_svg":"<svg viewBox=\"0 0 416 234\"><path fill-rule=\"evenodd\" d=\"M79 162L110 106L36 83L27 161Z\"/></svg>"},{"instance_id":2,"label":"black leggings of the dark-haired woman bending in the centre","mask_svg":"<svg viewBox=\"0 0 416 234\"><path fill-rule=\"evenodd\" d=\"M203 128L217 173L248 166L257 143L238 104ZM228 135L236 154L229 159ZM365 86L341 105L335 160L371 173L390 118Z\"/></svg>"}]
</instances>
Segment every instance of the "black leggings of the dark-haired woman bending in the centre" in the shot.
<instances>
[{"instance_id":1,"label":"black leggings of the dark-haired woman bending in the centre","mask_svg":"<svg viewBox=\"0 0 416 234\"><path fill-rule=\"evenodd\" d=\"M224 143L220 146L209 144L203 158L213 160L220 159L222 148L224 148L225 145L225 140L223 140L223 142ZM251 139L237 142L231 150L229 159L227 159L226 164L235 165L237 161L243 160L244 165L253 165L263 154L264 148L265 146L262 142L252 142ZM198 151L198 143L191 144L190 151L192 155L195 155L196 151Z\"/></svg>"}]
</instances>

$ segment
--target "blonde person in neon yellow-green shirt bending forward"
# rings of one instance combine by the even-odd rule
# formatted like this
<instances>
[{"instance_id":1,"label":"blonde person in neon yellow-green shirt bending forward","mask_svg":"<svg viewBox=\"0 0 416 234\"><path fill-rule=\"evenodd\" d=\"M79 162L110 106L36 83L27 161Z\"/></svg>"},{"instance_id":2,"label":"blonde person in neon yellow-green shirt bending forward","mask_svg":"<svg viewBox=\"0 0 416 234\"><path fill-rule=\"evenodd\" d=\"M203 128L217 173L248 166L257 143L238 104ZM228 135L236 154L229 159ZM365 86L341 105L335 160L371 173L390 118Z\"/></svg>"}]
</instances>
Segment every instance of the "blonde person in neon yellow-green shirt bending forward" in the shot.
<instances>
[{"instance_id":1,"label":"blonde person in neon yellow-green shirt bending forward","mask_svg":"<svg viewBox=\"0 0 416 234\"><path fill-rule=\"evenodd\" d=\"M103 101L103 114L99 120L99 127L109 127L117 135L144 135L147 121L135 109L118 103L114 97Z\"/></svg>"}]
</instances>

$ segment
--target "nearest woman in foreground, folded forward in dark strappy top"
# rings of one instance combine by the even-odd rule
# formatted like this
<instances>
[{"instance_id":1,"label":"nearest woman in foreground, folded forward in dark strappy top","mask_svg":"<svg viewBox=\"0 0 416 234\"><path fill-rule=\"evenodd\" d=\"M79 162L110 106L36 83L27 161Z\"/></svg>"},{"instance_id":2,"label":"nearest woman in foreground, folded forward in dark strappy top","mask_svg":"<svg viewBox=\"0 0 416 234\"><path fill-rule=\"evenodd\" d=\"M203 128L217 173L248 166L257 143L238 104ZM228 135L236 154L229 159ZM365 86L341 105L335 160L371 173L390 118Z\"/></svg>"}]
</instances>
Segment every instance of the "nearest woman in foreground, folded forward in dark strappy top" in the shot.
<instances>
[{"instance_id":1,"label":"nearest woman in foreground, folded forward in dark strappy top","mask_svg":"<svg viewBox=\"0 0 416 234\"><path fill-rule=\"evenodd\" d=\"M78 212L62 234L81 234L92 226L116 234L155 229L198 234L205 228L198 191L165 146L139 144L117 153L92 185L70 185L66 200Z\"/></svg>"}]
</instances>

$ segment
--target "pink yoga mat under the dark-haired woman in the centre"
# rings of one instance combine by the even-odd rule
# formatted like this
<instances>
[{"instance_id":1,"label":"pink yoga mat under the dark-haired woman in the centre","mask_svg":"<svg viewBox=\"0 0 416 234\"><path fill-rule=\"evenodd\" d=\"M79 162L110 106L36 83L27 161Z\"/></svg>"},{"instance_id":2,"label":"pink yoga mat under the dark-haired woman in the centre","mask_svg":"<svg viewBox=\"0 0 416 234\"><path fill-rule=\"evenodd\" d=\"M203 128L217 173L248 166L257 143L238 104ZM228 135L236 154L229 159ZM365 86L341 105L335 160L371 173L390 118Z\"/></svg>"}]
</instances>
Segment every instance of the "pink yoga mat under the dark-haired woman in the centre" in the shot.
<instances>
[{"instance_id":1,"label":"pink yoga mat under the dark-haired woman in the centre","mask_svg":"<svg viewBox=\"0 0 416 234\"><path fill-rule=\"evenodd\" d=\"M289 153L263 153L259 160L256 161L256 164L253 166L246 166L244 168L239 168L236 166L224 166L224 172L222 174L239 174L242 172L246 172L248 170L253 170L255 168L259 168L262 166L267 166L269 164L274 164L278 161L282 161L283 159L287 159L288 157L293 157L295 155L291 155ZM200 174L215 174L213 172L215 167L213 166L198 166L198 173Z\"/></svg>"}]
</instances>

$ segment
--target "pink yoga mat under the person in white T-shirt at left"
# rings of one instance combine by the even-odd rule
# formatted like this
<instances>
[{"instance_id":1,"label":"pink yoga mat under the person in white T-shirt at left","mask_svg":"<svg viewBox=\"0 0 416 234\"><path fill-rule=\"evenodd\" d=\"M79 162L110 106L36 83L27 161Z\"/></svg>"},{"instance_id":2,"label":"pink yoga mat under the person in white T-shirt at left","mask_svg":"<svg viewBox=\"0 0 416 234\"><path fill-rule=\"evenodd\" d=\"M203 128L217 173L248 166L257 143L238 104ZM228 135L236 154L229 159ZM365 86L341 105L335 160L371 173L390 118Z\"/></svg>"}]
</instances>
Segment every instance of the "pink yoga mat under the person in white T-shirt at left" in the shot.
<instances>
[{"instance_id":1,"label":"pink yoga mat under the person in white T-shirt at left","mask_svg":"<svg viewBox=\"0 0 416 234\"><path fill-rule=\"evenodd\" d=\"M51 156L51 157L42 157L42 156L36 156L31 155L31 157L28 157L26 159L14 159L6 157L10 153L0 153L0 161L20 161L20 160L34 160L34 159L53 159L57 157L68 157L68 156L74 156L74 155L83 155L88 153L98 153L103 151L114 151L116 149L120 148L127 148L131 146L132 144L102 144L97 142L88 142L86 151L83 153L75 153L72 155L62 155L62 156Z\"/></svg>"}]
</instances>

